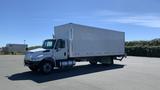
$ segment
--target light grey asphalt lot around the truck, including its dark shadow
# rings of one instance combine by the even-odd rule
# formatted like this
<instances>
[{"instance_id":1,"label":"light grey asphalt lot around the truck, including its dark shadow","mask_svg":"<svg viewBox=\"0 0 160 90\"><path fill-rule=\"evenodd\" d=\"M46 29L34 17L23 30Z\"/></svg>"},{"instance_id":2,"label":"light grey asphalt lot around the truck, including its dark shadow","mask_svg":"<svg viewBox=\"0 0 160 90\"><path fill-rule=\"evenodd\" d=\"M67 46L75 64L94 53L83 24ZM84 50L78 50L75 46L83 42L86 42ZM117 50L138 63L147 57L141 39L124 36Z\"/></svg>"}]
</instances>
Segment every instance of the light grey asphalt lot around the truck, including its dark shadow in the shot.
<instances>
[{"instance_id":1,"label":"light grey asphalt lot around the truck, including its dark shadow","mask_svg":"<svg viewBox=\"0 0 160 90\"><path fill-rule=\"evenodd\" d=\"M131 57L114 65L79 62L49 75L31 72L23 55L0 55L0 90L160 90L160 58Z\"/></svg>"}]
</instances>

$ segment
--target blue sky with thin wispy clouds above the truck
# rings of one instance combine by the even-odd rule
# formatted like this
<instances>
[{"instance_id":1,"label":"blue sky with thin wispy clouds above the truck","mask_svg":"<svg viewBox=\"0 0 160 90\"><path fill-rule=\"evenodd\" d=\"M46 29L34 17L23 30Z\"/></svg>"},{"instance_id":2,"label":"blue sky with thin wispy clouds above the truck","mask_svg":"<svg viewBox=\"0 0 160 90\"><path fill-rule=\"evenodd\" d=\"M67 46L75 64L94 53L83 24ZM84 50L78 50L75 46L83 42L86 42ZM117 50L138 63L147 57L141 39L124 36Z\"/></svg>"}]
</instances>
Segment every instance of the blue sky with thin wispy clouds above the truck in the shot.
<instances>
[{"instance_id":1,"label":"blue sky with thin wispy clouds above the truck","mask_svg":"<svg viewBox=\"0 0 160 90\"><path fill-rule=\"evenodd\" d=\"M126 41L160 38L160 0L0 0L0 47L41 45L65 23L123 31Z\"/></svg>"}]
</instances>

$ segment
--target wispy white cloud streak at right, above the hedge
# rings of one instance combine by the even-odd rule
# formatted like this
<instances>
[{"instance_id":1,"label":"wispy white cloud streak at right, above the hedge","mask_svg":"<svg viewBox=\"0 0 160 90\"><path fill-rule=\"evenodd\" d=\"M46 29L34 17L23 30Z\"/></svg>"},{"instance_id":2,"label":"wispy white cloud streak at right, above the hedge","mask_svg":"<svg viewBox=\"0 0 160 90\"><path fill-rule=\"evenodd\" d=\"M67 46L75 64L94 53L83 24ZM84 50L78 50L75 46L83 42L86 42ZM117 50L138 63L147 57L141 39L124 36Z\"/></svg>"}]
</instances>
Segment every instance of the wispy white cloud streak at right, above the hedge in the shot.
<instances>
[{"instance_id":1,"label":"wispy white cloud streak at right, above the hedge","mask_svg":"<svg viewBox=\"0 0 160 90\"><path fill-rule=\"evenodd\" d=\"M96 15L105 17L105 20L104 18L102 19L103 22L123 23L152 28L160 28L159 13L136 14L114 11L101 11Z\"/></svg>"}]
</instances>

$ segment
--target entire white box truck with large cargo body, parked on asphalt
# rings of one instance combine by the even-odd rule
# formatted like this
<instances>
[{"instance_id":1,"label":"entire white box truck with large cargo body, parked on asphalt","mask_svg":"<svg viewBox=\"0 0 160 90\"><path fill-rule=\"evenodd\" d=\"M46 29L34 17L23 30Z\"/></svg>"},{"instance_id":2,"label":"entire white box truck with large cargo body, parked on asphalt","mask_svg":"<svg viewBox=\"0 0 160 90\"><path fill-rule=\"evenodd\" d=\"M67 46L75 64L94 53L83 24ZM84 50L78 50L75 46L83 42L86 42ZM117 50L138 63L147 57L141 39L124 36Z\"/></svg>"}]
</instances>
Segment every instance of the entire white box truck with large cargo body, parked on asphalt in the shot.
<instances>
[{"instance_id":1,"label":"entire white box truck with large cargo body, parked on asphalt","mask_svg":"<svg viewBox=\"0 0 160 90\"><path fill-rule=\"evenodd\" d=\"M73 67L77 61L113 64L125 56L124 32L68 23L56 26L54 34L42 48L25 54L24 64L32 71L50 73L54 68Z\"/></svg>"}]
</instances>

